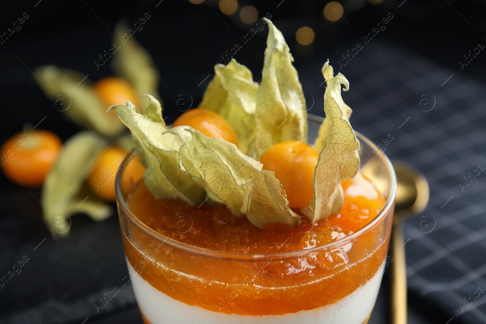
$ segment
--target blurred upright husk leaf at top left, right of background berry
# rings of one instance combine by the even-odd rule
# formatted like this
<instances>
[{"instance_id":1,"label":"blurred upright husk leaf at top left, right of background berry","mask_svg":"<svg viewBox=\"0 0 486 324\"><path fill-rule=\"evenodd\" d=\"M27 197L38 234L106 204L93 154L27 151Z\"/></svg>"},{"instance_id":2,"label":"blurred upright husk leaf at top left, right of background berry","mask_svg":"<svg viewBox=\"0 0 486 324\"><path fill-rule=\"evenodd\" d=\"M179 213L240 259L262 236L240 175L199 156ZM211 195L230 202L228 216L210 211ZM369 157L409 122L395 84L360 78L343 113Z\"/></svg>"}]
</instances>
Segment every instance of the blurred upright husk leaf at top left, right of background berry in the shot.
<instances>
[{"instance_id":1,"label":"blurred upright husk leaf at top left, right of background berry","mask_svg":"<svg viewBox=\"0 0 486 324\"><path fill-rule=\"evenodd\" d=\"M118 45L118 50L112 59L112 68L116 74L132 84L139 95L151 93L160 102L158 95L160 73L150 53L140 46L135 36L129 33L126 24L117 24L113 43ZM145 102L141 100L141 102L145 106L148 100Z\"/></svg>"}]
</instances>

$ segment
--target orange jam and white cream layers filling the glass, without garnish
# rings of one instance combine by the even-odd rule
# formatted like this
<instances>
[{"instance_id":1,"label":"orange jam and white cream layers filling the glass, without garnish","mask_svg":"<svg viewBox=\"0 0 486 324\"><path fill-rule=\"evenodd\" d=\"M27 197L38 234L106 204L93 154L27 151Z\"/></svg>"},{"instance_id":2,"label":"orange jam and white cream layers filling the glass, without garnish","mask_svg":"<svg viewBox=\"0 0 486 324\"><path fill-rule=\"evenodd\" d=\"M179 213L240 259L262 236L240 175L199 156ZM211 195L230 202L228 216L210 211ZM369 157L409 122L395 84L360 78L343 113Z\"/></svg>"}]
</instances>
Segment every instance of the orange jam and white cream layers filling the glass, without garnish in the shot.
<instances>
[{"instance_id":1,"label":"orange jam and white cream layers filling the glass, without garnish","mask_svg":"<svg viewBox=\"0 0 486 324\"><path fill-rule=\"evenodd\" d=\"M160 242L145 235L134 243L124 237L128 269L138 273L132 284L145 323L202 324L209 317L208 323L364 323L380 288L387 251L377 231L302 257L273 256L315 250L345 238L374 219L385 204L361 175L344 189L341 213L312 228L304 221L296 227L271 223L259 229L235 218L224 205L198 208L158 200L139 182L126 204L156 232L214 253L265 256L235 262L209 252L209 259L201 260L157 248ZM381 244L376 242L381 239Z\"/></svg>"}]
</instances>

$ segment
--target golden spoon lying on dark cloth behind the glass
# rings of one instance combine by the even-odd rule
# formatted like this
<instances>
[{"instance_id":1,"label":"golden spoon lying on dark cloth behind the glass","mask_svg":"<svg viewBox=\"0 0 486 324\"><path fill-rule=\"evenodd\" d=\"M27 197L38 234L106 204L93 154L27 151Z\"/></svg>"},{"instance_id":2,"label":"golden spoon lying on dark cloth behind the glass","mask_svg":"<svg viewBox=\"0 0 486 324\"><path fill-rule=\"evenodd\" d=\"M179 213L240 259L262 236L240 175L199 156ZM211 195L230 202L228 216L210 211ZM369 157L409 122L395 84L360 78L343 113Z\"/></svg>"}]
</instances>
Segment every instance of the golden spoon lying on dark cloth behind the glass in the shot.
<instances>
[{"instance_id":1,"label":"golden spoon lying on dark cloth behind the glass","mask_svg":"<svg viewBox=\"0 0 486 324\"><path fill-rule=\"evenodd\" d=\"M425 209L429 202L429 184L422 173L411 165L399 161L392 161L392 164L397 174L397 197L391 239L391 315L392 324L407 324L407 272L401 221Z\"/></svg>"}]
</instances>

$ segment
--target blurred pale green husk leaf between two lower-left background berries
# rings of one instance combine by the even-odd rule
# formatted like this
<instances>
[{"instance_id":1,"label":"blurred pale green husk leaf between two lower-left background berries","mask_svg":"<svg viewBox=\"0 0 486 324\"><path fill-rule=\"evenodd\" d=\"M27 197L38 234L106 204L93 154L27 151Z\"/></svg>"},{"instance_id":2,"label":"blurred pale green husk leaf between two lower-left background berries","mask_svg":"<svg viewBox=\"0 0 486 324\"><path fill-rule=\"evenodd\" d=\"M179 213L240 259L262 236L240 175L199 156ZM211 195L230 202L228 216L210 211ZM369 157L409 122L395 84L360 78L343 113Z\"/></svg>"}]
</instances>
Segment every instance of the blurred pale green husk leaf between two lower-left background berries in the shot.
<instances>
[{"instance_id":1,"label":"blurred pale green husk leaf between two lower-left background berries","mask_svg":"<svg viewBox=\"0 0 486 324\"><path fill-rule=\"evenodd\" d=\"M85 212L95 221L111 215L111 208L93 197L80 197L96 155L104 144L89 131L80 132L66 141L42 187L44 222L53 236L69 235L69 214ZM83 202L81 205L80 203ZM67 217L66 217L67 216Z\"/></svg>"}]
</instances>

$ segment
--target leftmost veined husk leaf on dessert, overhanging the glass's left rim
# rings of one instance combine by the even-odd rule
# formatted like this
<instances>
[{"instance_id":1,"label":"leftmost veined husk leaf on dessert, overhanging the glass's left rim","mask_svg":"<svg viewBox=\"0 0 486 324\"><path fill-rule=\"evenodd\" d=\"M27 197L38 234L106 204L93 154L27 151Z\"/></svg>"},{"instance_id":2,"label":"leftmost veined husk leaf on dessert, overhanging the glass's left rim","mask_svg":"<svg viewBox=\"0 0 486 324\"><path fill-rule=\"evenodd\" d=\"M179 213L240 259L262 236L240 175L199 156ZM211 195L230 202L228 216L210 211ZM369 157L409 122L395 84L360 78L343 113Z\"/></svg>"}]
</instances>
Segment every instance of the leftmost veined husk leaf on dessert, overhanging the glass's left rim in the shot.
<instances>
[{"instance_id":1,"label":"leftmost veined husk leaf on dessert, overhanging the glass's left rim","mask_svg":"<svg viewBox=\"0 0 486 324\"><path fill-rule=\"evenodd\" d=\"M147 167L143 179L154 195L161 198L179 198L193 204L201 204L206 193L187 172L179 169L179 148L184 140L166 132L160 103L152 97L151 104L142 115L131 102L117 104L114 109L120 120L130 129L133 139L142 148L139 157ZM156 120L160 120L157 122Z\"/></svg>"}]
</instances>

